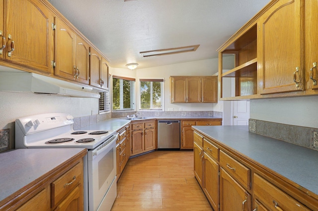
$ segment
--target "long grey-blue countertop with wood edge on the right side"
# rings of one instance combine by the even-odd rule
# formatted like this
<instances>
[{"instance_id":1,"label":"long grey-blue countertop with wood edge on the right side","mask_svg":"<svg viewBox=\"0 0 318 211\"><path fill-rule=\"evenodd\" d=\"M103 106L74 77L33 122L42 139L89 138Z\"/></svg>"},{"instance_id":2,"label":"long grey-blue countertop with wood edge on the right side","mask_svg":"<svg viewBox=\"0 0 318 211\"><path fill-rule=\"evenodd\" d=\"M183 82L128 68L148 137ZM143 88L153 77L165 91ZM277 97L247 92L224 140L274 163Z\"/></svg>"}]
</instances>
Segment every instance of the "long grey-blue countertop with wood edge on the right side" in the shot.
<instances>
[{"instance_id":1,"label":"long grey-blue countertop with wood edge on the right side","mask_svg":"<svg viewBox=\"0 0 318 211\"><path fill-rule=\"evenodd\" d=\"M318 195L318 151L249 132L248 126L192 128Z\"/></svg>"}]
</instances>

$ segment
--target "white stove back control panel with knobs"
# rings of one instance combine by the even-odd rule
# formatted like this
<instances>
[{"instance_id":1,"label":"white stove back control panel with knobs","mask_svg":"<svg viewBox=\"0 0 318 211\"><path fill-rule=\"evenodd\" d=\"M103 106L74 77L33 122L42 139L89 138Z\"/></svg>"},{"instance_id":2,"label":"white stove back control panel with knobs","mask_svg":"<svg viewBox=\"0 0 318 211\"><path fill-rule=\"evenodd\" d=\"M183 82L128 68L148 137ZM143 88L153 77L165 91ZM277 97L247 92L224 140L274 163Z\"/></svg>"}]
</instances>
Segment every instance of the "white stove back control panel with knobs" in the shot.
<instances>
[{"instance_id":1,"label":"white stove back control panel with knobs","mask_svg":"<svg viewBox=\"0 0 318 211\"><path fill-rule=\"evenodd\" d=\"M16 127L24 135L41 132L62 126L72 125L74 117L68 113L45 113L26 116L15 120Z\"/></svg>"}]
</instances>

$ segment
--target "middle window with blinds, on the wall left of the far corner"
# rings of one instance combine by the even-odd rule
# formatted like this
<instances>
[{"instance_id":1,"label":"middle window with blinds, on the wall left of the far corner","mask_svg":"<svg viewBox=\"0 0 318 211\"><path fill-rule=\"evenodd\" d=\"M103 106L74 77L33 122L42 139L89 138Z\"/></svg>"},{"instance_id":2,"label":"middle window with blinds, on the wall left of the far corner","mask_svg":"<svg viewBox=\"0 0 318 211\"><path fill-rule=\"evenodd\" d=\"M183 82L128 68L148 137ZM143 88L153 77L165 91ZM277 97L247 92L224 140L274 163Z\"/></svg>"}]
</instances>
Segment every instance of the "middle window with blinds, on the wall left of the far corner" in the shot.
<instances>
[{"instance_id":1,"label":"middle window with blinds, on the wall left of the far corner","mask_svg":"<svg viewBox=\"0 0 318 211\"><path fill-rule=\"evenodd\" d=\"M135 110L135 79L113 76L113 110Z\"/></svg>"}]
</instances>

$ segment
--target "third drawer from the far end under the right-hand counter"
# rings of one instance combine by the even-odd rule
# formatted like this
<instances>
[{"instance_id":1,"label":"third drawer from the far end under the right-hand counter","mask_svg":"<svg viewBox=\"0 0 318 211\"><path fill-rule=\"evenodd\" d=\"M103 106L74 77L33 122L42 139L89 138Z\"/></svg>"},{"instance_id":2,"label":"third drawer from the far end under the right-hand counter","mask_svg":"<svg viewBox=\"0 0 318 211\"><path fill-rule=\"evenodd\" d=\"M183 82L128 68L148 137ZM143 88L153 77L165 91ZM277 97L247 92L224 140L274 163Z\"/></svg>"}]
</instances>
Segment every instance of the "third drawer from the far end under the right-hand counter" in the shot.
<instances>
[{"instance_id":1,"label":"third drawer from the far end under the right-hand counter","mask_svg":"<svg viewBox=\"0 0 318 211\"><path fill-rule=\"evenodd\" d=\"M238 182L250 190L250 169L220 150L220 164Z\"/></svg>"}]
</instances>

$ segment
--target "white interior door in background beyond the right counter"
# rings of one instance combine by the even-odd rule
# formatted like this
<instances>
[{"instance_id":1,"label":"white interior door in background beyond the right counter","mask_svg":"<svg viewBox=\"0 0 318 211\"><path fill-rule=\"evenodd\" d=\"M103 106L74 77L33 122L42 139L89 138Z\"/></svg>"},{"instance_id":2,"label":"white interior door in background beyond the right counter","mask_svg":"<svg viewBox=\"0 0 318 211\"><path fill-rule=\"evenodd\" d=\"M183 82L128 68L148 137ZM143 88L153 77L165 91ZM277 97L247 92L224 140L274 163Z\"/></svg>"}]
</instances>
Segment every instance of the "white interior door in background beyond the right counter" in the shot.
<instances>
[{"instance_id":1,"label":"white interior door in background beyond the right counter","mask_svg":"<svg viewBox=\"0 0 318 211\"><path fill-rule=\"evenodd\" d=\"M248 125L249 101L233 102L233 125Z\"/></svg>"}]
</instances>

